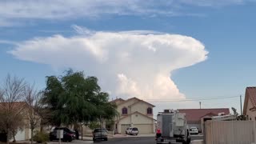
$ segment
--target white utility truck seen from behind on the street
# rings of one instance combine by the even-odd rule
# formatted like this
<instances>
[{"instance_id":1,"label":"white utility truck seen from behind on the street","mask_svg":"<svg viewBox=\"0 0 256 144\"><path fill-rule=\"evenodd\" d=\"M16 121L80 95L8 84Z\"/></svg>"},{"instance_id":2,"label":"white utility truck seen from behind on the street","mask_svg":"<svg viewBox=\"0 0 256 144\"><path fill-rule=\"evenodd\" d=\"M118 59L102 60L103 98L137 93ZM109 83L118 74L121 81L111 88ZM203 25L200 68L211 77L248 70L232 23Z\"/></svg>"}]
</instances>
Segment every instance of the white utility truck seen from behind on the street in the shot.
<instances>
[{"instance_id":1,"label":"white utility truck seen from behind on the street","mask_svg":"<svg viewBox=\"0 0 256 144\"><path fill-rule=\"evenodd\" d=\"M186 114L178 110L164 110L158 113L156 143L190 143L190 134L186 125Z\"/></svg>"}]
</instances>

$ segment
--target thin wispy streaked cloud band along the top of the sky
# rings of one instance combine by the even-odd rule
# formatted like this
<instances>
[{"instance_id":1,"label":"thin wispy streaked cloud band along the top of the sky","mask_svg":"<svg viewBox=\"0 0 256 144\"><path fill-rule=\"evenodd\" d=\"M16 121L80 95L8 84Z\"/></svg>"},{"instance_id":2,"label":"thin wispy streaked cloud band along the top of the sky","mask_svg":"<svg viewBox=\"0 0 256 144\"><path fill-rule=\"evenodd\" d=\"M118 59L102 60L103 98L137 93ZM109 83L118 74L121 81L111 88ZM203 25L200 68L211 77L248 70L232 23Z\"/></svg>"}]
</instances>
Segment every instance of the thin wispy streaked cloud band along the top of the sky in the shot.
<instances>
[{"instance_id":1,"label":"thin wispy streaked cloud band along the top of the sky","mask_svg":"<svg viewBox=\"0 0 256 144\"><path fill-rule=\"evenodd\" d=\"M0 26L21 19L98 18L106 14L137 16L200 15L182 11L182 6L226 6L254 0L2 0Z\"/></svg>"}]
</instances>

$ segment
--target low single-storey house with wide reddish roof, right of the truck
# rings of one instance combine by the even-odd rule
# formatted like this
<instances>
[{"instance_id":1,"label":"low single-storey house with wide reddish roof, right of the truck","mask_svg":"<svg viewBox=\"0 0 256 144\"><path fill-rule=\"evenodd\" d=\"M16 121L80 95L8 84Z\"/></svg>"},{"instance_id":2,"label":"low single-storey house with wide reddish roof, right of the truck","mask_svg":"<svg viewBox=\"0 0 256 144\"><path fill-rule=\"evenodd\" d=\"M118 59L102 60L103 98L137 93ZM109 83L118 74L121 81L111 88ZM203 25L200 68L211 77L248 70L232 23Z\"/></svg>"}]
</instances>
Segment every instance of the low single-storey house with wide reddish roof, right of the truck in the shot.
<instances>
[{"instance_id":1,"label":"low single-storey house with wide reddish roof, right of the truck","mask_svg":"<svg viewBox=\"0 0 256 144\"><path fill-rule=\"evenodd\" d=\"M230 109L220 108L220 109L180 109L181 113L186 114L186 122L189 127L198 127L199 131L202 131L203 123L211 119L213 116L218 116L219 114L230 114Z\"/></svg>"}]
</instances>

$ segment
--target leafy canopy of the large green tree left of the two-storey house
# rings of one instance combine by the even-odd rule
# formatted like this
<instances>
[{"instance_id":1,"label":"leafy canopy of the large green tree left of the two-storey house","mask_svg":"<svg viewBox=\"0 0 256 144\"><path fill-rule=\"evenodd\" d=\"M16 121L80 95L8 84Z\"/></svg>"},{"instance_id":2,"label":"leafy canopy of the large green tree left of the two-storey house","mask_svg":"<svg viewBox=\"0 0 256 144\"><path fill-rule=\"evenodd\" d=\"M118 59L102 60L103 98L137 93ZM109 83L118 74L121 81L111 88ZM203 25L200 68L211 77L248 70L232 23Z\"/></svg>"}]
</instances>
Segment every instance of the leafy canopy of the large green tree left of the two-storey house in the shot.
<instances>
[{"instance_id":1,"label":"leafy canopy of the large green tree left of the two-storey house","mask_svg":"<svg viewBox=\"0 0 256 144\"><path fill-rule=\"evenodd\" d=\"M50 122L55 126L113 118L117 113L108 100L109 94L101 91L98 78L85 78L83 72L67 70L64 76L46 77L42 102L52 111Z\"/></svg>"}]
</instances>

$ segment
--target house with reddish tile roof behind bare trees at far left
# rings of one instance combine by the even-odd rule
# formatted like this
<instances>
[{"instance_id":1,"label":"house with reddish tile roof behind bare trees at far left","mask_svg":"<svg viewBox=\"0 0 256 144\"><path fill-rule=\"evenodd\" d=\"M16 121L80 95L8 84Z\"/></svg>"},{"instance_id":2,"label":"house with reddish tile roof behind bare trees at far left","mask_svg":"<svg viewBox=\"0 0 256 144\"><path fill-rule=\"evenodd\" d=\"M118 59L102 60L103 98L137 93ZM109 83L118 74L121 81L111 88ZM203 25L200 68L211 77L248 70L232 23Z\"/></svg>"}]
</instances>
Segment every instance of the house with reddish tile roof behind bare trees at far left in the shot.
<instances>
[{"instance_id":1,"label":"house with reddish tile roof behind bare trees at far left","mask_svg":"<svg viewBox=\"0 0 256 144\"><path fill-rule=\"evenodd\" d=\"M9 104L6 102L0 103L0 110L5 109L6 106L12 107L12 111L17 111L19 114L22 114L23 122L22 130L18 130L17 134L15 135L16 141L23 141L29 140L31 138L31 130L30 130L30 110L31 108L26 102L13 102L13 104ZM39 116L37 116L39 117ZM38 119L40 121L40 118ZM38 122L39 125L39 122ZM39 128L39 126L38 126ZM13 138L11 138L12 140Z\"/></svg>"}]
</instances>

